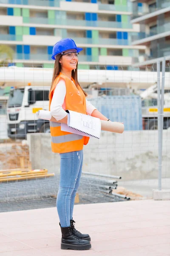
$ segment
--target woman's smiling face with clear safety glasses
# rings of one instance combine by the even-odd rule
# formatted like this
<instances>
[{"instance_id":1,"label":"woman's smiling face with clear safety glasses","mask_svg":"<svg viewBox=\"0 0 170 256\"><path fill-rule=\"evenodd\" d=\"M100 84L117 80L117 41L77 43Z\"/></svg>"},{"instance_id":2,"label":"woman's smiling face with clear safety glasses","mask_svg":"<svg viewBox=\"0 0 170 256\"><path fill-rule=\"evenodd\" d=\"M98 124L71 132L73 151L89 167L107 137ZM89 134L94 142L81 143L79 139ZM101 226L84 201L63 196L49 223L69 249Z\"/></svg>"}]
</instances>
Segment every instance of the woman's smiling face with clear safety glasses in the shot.
<instances>
[{"instance_id":1,"label":"woman's smiling face with clear safety glasses","mask_svg":"<svg viewBox=\"0 0 170 256\"><path fill-rule=\"evenodd\" d=\"M75 54L74 54L74 52L75 52ZM78 62L76 53L77 53L76 49L70 49L70 50L63 52L63 55L59 60L62 69L65 69L68 71L72 71L72 70L76 69L77 62Z\"/></svg>"}]
</instances>

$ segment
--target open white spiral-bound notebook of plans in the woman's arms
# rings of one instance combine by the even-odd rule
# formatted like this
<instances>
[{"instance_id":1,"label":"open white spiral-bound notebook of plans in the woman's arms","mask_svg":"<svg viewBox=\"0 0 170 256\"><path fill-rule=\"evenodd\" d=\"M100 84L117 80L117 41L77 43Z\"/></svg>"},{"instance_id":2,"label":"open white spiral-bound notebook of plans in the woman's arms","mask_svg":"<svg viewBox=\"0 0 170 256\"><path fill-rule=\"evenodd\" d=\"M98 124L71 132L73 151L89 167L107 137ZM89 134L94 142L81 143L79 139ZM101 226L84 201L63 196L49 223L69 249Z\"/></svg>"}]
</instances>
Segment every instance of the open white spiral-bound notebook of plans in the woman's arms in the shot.
<instances>
[{"instance_id":1,"label":"open white spiral-bound notebook of plans in the woman's arms","mask_svg":"<svg viewBox=\"0 0 170 256\"><path fill-rule=\"evenodd\" d=\"M71 110L68 113L67 124L61 123L61 130L88 137L100 138L101 122L99 118L88 116Z\"/></svg>"}]
</instances>

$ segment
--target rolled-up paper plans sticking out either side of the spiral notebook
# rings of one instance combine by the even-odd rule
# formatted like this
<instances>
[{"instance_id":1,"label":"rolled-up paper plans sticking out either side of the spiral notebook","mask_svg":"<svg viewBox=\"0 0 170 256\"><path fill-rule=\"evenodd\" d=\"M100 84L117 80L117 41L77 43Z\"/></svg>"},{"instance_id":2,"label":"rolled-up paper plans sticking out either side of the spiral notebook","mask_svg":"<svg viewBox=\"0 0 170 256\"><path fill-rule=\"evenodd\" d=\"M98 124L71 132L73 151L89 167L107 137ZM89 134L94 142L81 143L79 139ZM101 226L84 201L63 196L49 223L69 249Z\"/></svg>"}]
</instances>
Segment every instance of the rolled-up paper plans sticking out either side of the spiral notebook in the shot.
<instances>
[{"instance_id":1,"label":"rolled-up paper plans sticking out either side of the spiral notebook","mask_svg":"<svg viewBox=\"0 0 170 256\"><path fill-rule=\"evenodd\" d=\"M36 113L36 116L40 119L45 119L51 122L59 122L57 121L50 113L50 111L47 110L39 110ZM101 121L101 130L102 131L111 131L116 133L123 133L124 131L124 124L119 122L108 122L108 121Z\"/></svg>"}]
</instances>

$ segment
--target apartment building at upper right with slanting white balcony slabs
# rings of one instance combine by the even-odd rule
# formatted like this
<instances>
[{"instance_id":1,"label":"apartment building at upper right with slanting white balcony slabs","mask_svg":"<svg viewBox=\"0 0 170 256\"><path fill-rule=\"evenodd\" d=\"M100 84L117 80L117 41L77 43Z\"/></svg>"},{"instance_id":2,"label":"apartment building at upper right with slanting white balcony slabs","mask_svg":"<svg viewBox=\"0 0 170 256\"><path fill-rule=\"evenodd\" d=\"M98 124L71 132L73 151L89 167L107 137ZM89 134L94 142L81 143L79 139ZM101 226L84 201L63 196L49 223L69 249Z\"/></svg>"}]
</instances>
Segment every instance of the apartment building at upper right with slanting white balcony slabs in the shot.
<instances>
[{"instance_id":1,"label":"apartment building at upper right with slanting white balcony slabs","mask_svg":"<svg viewBox=\"0 0 170 256\"><path fill-rule=\"evenodd\" d=\"M153 66L164 56L170 61L170 0L131 2L131 23L140 26L140 32L133 33L132 45L146 47L144 55L133 58L133 66Z\"/></svg>"}]
</instances>

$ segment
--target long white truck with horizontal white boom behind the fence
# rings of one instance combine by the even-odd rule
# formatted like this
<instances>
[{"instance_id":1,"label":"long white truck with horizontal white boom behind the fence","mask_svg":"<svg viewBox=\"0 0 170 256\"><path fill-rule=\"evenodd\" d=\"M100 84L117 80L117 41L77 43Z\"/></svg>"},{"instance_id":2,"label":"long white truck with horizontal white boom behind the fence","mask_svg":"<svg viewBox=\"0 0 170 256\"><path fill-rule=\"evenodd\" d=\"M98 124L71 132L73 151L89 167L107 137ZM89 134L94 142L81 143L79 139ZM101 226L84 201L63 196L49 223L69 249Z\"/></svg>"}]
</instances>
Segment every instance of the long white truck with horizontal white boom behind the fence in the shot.
<instances>
[{"instance_id":1,"label":"long white truck with horizontal white boom behind the fence","mask_svg":"<svg viewBox=\"0 0 170 256\"><path fill-rule=\"evenodd\" d=\"M48 93L51 85L52 69L0 68L0 84L11 86L7 105L8 137L26 138L27 133L49 132L49 124L37 120L35 113L48 110ZM79 70L78 80L90 97L99 97L100 87L115 90L129 89L140 94L143 105L143 129L157 128L157 73L125 70ZM25 86L25 84L28 84ZM141 91L141 89L146 89ZM170 77L165 73L164 128L170 127Z\"/></svg>"}]
</instances>

